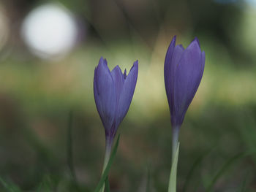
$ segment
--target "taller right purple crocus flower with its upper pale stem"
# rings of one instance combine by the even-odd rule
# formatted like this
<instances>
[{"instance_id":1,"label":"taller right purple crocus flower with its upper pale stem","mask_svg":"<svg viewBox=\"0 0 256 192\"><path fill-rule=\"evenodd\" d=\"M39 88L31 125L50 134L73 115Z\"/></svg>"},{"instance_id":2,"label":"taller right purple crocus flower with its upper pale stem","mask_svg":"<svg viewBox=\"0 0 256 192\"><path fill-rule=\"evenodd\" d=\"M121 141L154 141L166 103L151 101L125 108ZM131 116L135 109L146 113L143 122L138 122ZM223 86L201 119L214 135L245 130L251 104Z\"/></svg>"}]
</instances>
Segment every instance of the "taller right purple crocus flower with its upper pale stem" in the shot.
<instances>
[{"instance_id":1,"label":"taller right purple crocus flower with its upper pale stem","mask_svg":"<svg viewBox=\"0 0 256 192\"><path fill-rule=\"evenodd\" d=\"M173 153L178 143L178 131L189 104L195 96L203 76L205 53L195 38L187 49L176 45L173 37L165 56L165 91L170 107L173 129Z\"/></svg>"}]
</instances>

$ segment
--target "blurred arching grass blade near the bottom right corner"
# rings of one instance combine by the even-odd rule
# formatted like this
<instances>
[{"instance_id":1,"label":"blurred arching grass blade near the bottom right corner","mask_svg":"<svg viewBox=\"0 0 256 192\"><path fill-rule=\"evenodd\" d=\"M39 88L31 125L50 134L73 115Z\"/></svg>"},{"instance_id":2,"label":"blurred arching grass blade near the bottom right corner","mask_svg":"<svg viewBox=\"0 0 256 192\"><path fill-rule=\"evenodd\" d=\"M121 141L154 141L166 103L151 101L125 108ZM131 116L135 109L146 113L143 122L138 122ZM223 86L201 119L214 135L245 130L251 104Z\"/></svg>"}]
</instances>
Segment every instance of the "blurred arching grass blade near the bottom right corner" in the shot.
<instances>
[{"instance_id":1,"label":"blurred arching grass blade near the bottom right corner","mask_svg":"<svg viewBox=\"0 0 256 192\"><path fill-rule=\"evenodd\" d=\"M219 169L219 172L217 172L217 174L214 176L213 180L211 181L211 183L208 185L208 187L206 188L206 192L210 192L213 191L214 185L215 183L217 183L217 180L223 175L225 174L225 172L227 172L227 169L233 165L238 159L243 158L244 157L244 153L238 153L238 155L233 156L232 158L230 158L229 160L227 160L227 162L222 166L221 169Z\"/></svg>"}]
</instances>

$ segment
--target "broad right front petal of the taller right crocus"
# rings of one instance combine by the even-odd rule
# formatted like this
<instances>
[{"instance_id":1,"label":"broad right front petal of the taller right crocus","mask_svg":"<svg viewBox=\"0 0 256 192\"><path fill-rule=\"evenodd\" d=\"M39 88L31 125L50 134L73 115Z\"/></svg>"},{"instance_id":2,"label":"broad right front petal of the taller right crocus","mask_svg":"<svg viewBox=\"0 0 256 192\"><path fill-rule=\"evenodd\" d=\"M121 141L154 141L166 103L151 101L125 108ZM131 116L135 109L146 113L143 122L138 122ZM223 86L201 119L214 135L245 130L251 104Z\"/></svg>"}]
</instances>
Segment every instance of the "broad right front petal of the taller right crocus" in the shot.
<instances>
[{"instance_id":1,"label":"broad right front petal of the taller right crocus","mask_svg":"<svg viewBox=\"0 0 256 192\"><path fill-rule=\"evenodd\" d=\"M197 39L194 39L181 55L173 77L173 104L175 104L171 114L173 125L181 126L200 84L203 68L204 53L201 52Z\"/></svg>"}]
</instances>

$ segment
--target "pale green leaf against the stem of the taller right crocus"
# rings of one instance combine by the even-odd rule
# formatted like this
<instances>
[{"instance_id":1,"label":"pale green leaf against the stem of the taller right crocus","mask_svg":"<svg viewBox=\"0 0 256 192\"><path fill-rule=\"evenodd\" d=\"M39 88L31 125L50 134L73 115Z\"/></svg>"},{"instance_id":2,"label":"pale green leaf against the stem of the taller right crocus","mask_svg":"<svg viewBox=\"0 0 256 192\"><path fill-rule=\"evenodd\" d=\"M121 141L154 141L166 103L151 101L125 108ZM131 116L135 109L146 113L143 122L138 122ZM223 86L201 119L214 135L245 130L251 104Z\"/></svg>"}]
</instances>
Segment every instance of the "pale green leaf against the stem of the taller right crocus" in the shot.
<instances>
[{"instance_id":1,"label":"pale green leaf against the stem of the taller right crocus","mask_svg":"<svg viewBox=\"0 0 256 192\"><path fill-rule=\"evenodd\" d=\"M170 180L169 180L168 192L176 192L178 151L179 151L179 142L178 142L178 147L174 156L173 165L172 165L172 168L170 169Z\"/></svg>"}]
</instances>

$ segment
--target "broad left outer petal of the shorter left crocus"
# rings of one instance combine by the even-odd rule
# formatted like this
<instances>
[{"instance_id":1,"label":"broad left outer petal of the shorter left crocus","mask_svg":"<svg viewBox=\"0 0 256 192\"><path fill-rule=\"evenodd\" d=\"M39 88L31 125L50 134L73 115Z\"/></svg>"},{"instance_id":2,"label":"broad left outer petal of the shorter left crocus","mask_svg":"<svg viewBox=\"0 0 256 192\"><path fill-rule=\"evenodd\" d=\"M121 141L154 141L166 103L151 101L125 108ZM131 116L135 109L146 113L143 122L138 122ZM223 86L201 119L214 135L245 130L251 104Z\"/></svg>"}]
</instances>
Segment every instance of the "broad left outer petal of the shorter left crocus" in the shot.
<instances>
[{"instance_id":1,"label":"broad left outer petal of the shorter left crocus","mask_svg":"<svg viewBox=\"0 0 256 192\"><path fill-rule=\"evenodd\" d=\"M116 88L106 60L100 58L94 71L94 99L106 130L113 125L116 111Z\"/></svg>"}]
</instances>

